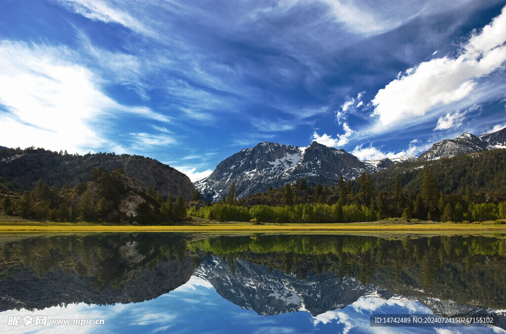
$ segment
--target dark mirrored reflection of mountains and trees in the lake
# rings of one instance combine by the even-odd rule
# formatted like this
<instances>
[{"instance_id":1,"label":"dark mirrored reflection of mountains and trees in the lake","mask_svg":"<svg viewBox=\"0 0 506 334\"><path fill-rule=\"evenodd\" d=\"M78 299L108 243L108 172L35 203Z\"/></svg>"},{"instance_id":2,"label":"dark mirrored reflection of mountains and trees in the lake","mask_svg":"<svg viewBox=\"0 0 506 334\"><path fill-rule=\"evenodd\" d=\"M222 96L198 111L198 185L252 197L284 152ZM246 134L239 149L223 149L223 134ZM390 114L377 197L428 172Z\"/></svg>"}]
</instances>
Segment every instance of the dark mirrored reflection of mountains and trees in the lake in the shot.
<instances>
[{"instance_id":1,"label":"dark mirrored reflection of mountains and trees in the lake","mask_svg":"<svg viewBox=\"0 0 506 334\"><path fill-rule=\"evenodd\" d=\"M444 317L493 314L506 328L505 274L502 235L3 236L0 310L140 303L193 276L264 316L317 319L370 297L418 301Z\"/></svg>"}]
</instances>

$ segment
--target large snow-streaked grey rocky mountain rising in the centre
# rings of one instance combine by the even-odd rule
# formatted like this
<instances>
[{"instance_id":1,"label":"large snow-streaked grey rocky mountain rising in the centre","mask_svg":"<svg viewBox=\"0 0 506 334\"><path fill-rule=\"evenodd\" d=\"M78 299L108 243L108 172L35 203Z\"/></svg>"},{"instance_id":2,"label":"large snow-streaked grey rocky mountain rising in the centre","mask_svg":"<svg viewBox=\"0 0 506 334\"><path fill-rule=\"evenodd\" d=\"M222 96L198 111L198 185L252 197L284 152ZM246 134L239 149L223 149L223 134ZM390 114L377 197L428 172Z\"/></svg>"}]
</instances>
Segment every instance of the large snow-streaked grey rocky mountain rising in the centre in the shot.
<instances>
[{"instance_id":1,"label":"large snow-streaked grey rocky mountain rising in the centre","mask_svg":"<svg viewBox=\"0 0 506 334\"><path fill-rule=\"evenodd\" d=\"M349 180L367 170L355 156L316 141L307 147L266 141L225 159L195 187L205 198L219 200L235 182L237 198L244 198L301 178L308 184L330 184L337 182L341 174Z\"/></svg>"}]
</instances>

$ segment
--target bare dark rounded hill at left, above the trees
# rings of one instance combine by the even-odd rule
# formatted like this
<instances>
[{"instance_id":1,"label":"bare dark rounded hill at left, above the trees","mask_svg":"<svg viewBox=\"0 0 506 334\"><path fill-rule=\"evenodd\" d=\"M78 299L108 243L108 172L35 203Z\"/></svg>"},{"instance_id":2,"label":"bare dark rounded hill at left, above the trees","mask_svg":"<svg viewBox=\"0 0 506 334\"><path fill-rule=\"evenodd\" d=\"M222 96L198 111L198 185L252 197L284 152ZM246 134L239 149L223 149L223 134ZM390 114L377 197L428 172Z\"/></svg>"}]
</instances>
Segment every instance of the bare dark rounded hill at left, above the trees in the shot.
<instances>
[{"instance_id":1,"label":"bare dark rounded hill at left, above the trees","mask_svg":"<svg viewBox=\"0 0 506 334\"><path fill-rule=\"evenodd\" d=\"M123 169L142 183L166 197L182 195L189 200L195 187L185 174L156 160L141 156L114 154L62 155L56 152L36 150L4 150L0 154L0 177L31 188L39 178L50 185L61 188L66 183L74 187L78 182L91 180L93 167L103 167L111 172Z\"/></svg>"}]
</instances>

